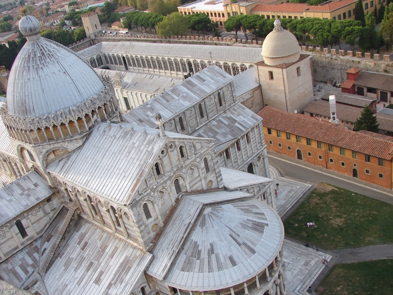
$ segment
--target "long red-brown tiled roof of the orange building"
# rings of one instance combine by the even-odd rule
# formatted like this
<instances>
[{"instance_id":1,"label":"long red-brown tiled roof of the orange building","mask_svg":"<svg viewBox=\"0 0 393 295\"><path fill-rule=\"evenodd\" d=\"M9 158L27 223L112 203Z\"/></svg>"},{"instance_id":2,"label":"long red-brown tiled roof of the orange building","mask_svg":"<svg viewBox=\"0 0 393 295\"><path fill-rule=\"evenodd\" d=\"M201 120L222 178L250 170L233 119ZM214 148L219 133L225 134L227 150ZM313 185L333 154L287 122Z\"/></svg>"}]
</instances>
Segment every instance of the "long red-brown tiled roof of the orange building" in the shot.
<instances>
[{"instance_id":1,"label":"long red-brown tiled roof of the orange building","mask_svg":"<svg viewBox=\"0 0 393 295\"><path fill-rule=\"evenodd\" d=\"M315 118L298 116L269 106L262 109L258 115L262 117L262 124L265 127L392 160L393 142L373 138L334 124L320 122Z\"/></svg>"}]
</instances>

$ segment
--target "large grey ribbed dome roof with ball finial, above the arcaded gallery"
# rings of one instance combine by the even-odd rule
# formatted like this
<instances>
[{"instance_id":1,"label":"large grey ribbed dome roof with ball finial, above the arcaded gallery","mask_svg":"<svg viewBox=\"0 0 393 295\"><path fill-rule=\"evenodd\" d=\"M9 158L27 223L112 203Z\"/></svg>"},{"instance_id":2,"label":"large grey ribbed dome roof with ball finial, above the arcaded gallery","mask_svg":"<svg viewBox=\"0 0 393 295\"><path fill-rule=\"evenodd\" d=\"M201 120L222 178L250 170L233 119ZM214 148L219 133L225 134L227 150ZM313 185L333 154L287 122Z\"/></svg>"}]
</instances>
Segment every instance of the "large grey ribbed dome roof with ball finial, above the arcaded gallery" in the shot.
<instances>
[{"instance_id":1,"label":"large grey ribbed dome roof with ball finial, above the arcaded gallery","mask_svg":"<svg viewBox=\"0 0 393 295\"><path fill-rule=\"evenodd\" d=\"M28 41L12 65L7 86L11 116L31 118L68 109L104 89L96 72L73 51L40 37L36 18L24 16L20 31Z\"/></svg>"}]
</instances>

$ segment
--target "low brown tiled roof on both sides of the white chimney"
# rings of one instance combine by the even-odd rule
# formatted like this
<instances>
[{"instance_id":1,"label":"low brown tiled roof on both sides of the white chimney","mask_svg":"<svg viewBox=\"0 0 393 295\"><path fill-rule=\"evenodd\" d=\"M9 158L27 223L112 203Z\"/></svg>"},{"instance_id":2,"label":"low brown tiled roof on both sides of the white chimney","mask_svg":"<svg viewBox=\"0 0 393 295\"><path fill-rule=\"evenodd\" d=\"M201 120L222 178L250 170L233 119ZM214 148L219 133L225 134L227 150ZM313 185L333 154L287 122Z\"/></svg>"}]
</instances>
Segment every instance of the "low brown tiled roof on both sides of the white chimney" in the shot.
<instances>
[{"instance_id":1,"label":"low brown tiled roof on both sides of the white chimney","mask_svg":"<svg viewBox=\"0 0 393 295\"><path fill-rule=\"evenodd\" d=\"M345 104L336 104L337 108L337 118L341 121L354 123L357 118L360 117L362 113L362 108L348 106ZM312 113L315 115L325 116L330 118L330 107L329 101L327 100L316 100L312 101L305 109L305 112Z\"/></svg>"}]
</instances>

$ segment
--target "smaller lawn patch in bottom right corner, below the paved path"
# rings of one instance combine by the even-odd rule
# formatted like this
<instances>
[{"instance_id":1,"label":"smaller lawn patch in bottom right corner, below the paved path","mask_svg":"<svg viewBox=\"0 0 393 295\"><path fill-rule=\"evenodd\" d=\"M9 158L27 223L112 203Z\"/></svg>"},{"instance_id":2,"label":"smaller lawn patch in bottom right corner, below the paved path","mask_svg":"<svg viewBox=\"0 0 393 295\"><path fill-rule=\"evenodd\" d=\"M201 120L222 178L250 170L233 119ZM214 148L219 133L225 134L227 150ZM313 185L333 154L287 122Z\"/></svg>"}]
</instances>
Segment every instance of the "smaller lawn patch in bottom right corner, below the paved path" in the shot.
<instances>
[{"instance_id":1,"label":"smaller lawn patch in bottom right corner, below the paved path","mask_svg":"<svg viewBox=\"0 0 393 295\"><path fill-rule=\"evenodd\" d=\"M333 266L319 285L319 295L393 294L393 260L385 259Z\"/></svg>"}]
</instances>

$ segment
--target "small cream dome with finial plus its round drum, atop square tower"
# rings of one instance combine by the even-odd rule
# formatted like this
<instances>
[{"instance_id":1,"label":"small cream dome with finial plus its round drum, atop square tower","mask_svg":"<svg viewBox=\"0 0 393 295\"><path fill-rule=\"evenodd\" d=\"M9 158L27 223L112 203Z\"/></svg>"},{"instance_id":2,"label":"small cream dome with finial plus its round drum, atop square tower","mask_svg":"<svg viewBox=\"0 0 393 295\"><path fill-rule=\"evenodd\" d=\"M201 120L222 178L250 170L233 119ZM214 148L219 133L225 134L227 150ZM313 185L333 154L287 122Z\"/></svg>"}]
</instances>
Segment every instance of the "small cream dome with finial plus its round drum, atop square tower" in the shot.
<instances>
[{"instance_id":1,"label":"small cream dome with finial plus its round drum, atop square tower","mask_svg":"<svg viewBox=\"0 0 393 295\"><path fill-rule=\"evenodd\" d=\"M279 19L262 44L263 61L268 65L295 62L300 57L300 46L295 35L282 29Z\"/></svg>"}]
</instances>

